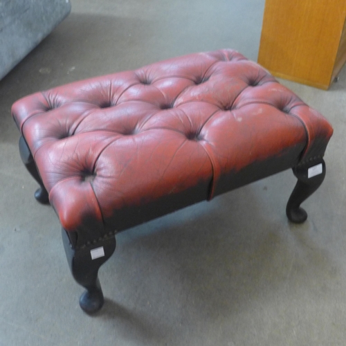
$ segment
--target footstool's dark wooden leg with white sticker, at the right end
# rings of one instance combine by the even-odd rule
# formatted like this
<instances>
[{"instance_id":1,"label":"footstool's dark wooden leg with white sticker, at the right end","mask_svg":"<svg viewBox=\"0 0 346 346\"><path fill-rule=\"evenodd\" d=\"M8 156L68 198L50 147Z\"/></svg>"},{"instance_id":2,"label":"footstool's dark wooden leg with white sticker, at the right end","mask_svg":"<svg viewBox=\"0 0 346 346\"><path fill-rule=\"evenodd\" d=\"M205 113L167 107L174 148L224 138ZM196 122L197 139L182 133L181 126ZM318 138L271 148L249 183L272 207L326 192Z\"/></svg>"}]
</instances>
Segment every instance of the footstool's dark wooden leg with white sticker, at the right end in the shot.
<instances>
[{"instance_id":1,"label":"footstool's dark wooden leg with white sticker, at the right end","mask_svg":"<svg viewBox=\"0 0 346 346\"><path fill-rule=\"evenodd\" d=\"M313 194L325 179L325 161L320 158L310 165L298 165L293 168L293 174L298 181L287 203L286 215L290 221L300 224L307 219L307 212L300 208L300 204Z\"/></svg>"}]
</instances>

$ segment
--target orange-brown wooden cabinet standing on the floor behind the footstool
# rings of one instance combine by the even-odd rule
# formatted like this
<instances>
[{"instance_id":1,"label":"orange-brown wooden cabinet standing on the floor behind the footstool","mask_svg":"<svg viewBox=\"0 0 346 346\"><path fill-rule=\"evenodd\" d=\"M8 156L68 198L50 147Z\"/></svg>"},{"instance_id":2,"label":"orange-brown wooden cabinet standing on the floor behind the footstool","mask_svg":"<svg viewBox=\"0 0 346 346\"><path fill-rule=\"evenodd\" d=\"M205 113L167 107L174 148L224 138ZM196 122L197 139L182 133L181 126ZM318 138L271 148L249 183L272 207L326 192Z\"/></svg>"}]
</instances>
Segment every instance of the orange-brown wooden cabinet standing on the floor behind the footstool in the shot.
<instances>
[{"instance_id":1,"label":"orange-brown wooden cabinet standing on the floor behind the footstool","mask_svg":"<svg viewBox=\"0 0 346 346\"><path fill-rule=\"evenodd\" d=\"M346 62L346 0L266 0L258 62L328 89Z\"/></svg>"}]
</instances>

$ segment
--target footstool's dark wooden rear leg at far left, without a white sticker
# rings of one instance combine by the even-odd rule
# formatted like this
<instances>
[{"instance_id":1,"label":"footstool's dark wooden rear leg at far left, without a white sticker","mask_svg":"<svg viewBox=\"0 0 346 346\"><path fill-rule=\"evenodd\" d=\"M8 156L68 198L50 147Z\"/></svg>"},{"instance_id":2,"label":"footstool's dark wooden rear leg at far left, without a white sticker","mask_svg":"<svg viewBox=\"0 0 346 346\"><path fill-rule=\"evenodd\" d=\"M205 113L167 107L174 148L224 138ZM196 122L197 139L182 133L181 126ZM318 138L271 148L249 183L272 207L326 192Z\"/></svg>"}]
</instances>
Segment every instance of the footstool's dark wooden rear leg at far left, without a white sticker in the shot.
<instances>
[{"instance_id":1,"label":"footstool's dark wooden rear leg at far left, without a white sticker","mask_svg":"<svg viewBox=\"0 0 346 346\"><path fill-rule=\"evenodd\" d=\"M42 179L39 176L39 172L37 172L37 167L35 165L33 155L30 152L28 145L26 144L26 140L23 136L19 139L19 152L21 154L21 161L23 161L24 165L28 172L33 176L35 181L39 183L39 189L35 192L35 199L39 201L39 203L47 204L49 203L48 192L42 183Z\"/></svg>"}]
</instances>

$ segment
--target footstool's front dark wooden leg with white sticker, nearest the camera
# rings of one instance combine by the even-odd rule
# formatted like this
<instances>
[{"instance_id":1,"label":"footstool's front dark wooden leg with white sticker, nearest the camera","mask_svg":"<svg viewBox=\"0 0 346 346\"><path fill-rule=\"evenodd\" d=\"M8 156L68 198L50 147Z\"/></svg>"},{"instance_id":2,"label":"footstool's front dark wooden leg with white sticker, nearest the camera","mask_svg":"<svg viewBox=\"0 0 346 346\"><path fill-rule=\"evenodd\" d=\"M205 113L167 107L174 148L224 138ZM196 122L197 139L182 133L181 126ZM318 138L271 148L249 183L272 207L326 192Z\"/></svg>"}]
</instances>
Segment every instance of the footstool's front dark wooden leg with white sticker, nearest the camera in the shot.
<instances>
[{"instance_id":1,"label":"footstool's front dark wooden leg with white sticker, nearest the camera","mask_svg":"<svg viewBox=\"0 0 346 346\"><path fill-rule=\"evenodd\" d=\"M116 249L116 238L112 236L98 242L75 246L78 243L77 237L76 233L68 233L62 229L62 239L71 273L75 281L86 289L80 296L80 307L86 313L95 313L101 309L104 302L98 270Z\"/></svg>"}]
</instances>

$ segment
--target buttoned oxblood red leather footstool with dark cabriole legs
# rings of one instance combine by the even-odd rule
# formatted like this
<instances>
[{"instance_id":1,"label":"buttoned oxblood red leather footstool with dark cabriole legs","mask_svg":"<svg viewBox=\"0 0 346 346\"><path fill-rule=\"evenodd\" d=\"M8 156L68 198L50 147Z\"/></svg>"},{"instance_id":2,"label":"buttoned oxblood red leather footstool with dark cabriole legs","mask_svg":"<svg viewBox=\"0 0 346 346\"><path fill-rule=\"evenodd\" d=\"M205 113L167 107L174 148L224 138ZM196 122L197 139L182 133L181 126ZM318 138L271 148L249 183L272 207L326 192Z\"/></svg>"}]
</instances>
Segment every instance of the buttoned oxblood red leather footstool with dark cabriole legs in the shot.
<instances>
[{"instance_id":1,"label":"buttoned oxblood red leather footstool with dark cabriole legs","mask_svg":"<svg viewBox=\"0 0 346 346\"><path fill-rule=\"evenodd\" d=\"M84 311L102 307L98 269L116 233L293 168L286 207L325 177L332 128L320 113L236 51L176 57L17 101L20 152L62 224Z\"/></svg>"}]
</instances>

